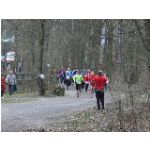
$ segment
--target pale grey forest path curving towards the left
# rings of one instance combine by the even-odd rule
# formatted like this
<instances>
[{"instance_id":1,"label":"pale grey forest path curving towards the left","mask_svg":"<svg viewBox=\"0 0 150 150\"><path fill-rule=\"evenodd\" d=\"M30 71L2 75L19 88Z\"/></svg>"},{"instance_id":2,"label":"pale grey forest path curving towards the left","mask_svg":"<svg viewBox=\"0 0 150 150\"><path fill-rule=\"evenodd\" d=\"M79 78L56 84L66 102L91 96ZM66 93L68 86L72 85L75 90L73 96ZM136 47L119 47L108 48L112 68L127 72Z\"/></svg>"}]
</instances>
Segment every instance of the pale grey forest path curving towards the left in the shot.
<instances>
[{"instance_id":1,"label":"pale grey forest path curving towards the left","mask_svg":"<svg viewBox=\"0 0 150 150\"><path fill-rule=\"evenodd\" d=\"M105 93L105 104L111 102L110 93ZM78 113L96 106L95 97L84 91L76 97L73 89L63 97L40 97L26 103L1 104L1 131L22 131L29 128L45 127L63 116Z\"/></svg>"}]
</instances>

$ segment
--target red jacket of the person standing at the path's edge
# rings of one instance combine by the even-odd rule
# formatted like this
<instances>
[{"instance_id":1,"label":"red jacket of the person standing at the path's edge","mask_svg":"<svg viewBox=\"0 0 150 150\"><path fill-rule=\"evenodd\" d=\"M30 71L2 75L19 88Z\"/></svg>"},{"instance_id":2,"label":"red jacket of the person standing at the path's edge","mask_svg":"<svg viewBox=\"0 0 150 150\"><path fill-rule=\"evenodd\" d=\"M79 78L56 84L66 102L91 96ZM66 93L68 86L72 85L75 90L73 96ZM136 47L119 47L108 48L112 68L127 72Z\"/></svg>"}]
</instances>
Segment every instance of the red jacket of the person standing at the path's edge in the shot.
<instances>
[{"instance_id":1,"label":"red jacket of the person standing at the path's edge","mask_svg":"<svg viewBox=\"0 0 150 150\"><path fill-rule=\"evenodd\" d=\"M106 85L107 79L105 76L95 76L94 78L95 81L95 90L104 90L104 87Z\"/></svg>"}]
</instances>

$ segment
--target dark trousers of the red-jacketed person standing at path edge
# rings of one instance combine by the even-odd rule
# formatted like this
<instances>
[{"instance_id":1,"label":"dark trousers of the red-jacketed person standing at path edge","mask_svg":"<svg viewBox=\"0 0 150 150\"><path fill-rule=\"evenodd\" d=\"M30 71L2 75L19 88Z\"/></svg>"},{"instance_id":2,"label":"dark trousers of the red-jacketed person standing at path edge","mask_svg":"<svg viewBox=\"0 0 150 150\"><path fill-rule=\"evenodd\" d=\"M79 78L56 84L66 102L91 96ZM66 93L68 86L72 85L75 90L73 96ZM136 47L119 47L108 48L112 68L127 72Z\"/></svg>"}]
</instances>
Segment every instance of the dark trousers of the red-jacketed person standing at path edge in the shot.
<instances>
[{"instance_id":1,"label":"dark trousers of the red-jacketed person standing at path edge","mask_svg":"<svg viewBox=\"0 0 150 150\"><path fill-rule=\"evenodd\" d=\"M100 109L100 103L102 105L102 109L104 109L104 91L96 91L96 99L97 99L97 107Z\"/></svg>"}]
</instances>

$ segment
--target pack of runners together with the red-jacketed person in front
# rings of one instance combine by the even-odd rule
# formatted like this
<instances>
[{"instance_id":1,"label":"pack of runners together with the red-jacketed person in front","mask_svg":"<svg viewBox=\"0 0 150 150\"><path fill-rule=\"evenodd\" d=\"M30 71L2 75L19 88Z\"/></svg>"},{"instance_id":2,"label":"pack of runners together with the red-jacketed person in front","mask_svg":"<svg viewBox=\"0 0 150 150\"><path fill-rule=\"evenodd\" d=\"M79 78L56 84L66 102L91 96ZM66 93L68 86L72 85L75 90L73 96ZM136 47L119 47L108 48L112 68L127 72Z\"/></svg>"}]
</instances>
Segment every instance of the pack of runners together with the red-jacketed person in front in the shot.
<instances>
[{"instance_id":1,"label":"pack of runners together with the red-jacketed person in front","mask_svg":"<svg viewBox=\"0 0 150 150\"><path fill-rule=\"evenodd\" d=\"M61 67L57 72L57 78L61 85L66 85L66 89L75 84L77 97L79 97L82 89L85 89L85 92L90 91L91 98L95 92L98 109L100 109L100 106L102 106L102 109L105 108L104 90L108 85L108 77L102 70L95 74L94 71L90 69L85 71L78 70L77 68L71 70L70 68L64 69Z\"/></svg>"}]
</instances>

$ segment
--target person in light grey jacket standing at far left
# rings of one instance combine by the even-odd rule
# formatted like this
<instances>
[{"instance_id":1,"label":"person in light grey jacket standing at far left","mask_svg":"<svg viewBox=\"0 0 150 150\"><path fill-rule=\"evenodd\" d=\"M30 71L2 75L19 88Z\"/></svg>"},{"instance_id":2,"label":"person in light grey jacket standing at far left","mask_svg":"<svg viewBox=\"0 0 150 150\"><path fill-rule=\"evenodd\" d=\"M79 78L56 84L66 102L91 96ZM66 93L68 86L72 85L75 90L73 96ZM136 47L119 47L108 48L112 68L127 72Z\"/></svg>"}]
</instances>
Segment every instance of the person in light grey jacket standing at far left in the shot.
<instances>
[{"instance_id":1,"label":"person in light grey jacket standing at far left","mask_svg":"<svg viewBox=\"0 0 150 150\"><path fill-rule=\"evenodd\" d=\"M16 91L17 84L16 75L13 73L13 71L10 71L10 74L7 75L6 83L8 84L9 94L12 95L12 93Z\"/></svg>"}]
</instances>

